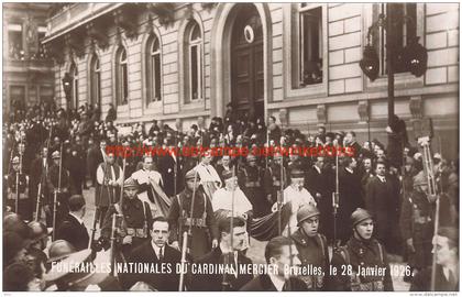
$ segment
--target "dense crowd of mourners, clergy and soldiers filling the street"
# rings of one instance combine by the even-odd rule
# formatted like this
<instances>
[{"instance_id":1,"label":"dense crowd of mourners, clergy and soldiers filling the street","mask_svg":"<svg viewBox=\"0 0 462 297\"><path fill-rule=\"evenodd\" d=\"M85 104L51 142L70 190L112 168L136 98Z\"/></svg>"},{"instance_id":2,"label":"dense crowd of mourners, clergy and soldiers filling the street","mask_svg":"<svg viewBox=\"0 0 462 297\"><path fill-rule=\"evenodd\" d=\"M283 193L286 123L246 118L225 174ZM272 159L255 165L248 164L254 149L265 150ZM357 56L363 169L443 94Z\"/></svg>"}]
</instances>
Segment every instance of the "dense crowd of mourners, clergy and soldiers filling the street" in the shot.
<instances>
[{"instance_id":1,"label":"dense crowd of mourners, clergy and soldiers filling the street","mask_svg":"<svg viewBox=\"0 0 462 297\"><path fill-rule=\"evenodd\" d=\"M186 254L188 263L240 266L254 263L246 255L252 238L267 241L264 258L276 272L198 272L187 274L182 289L393 290L392 253L408 263L402 276L411 289L429 290L436 241L446 249L437 251L437 289L459 287L458 161L437 153L429 163L397 117L386 129L387 145L375 139L360 144L354 131L324 127L308 135L283 130L274 117L253 119L232 105L208 128L199 118L187 131L153 120L127 132L116 119L112 106L105 120L98 106L70 112L35 107L4 123L4 290L178 290L180 273L111 273L89 285L56 275L51 263L94 262L105 250L112 251L110 263L177 264ZM333 148L123 157L109 150L118 145ZM339 146L352 153L339 153ZM437 195L428 188L429 173ZM95 197L84 191L90 187ZM85 226L90 204L95 220ZM348 275L340 273L345 265L352 267ZM319 273L296 275L286 266ZM330 266L339 274L330 274ZM364 275L359 267L385 273Z\"/></svg>"}]
</instances>

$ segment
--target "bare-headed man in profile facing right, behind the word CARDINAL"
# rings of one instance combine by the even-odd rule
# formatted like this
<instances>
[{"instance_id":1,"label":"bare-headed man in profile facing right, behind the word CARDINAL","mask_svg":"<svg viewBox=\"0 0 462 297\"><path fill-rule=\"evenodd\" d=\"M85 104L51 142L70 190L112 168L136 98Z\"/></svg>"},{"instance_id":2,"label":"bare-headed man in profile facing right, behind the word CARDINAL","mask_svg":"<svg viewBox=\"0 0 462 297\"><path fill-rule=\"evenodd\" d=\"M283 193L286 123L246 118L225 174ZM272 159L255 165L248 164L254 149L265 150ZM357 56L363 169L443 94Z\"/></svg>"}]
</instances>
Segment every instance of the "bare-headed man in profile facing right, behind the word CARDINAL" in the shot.
<instances>
[{"instance_id":1,"label":"bare-headed man in profile facing right, behind the word CARDINAL","mask_svg":"<svg viewBox=\"0 0 462 297\"><path fill-rule=\"evenodd\" d=\"M231 219L233 220L232 232L230 231ZM239 290L253 278L252 274L240 273L242 270L249 272L246 267L252 264L252 261L241 252L242 249L244 249L246 240L245 221L241 218L231 217L221 219L219 222L219 246L198 260L197 265L229 265L229 267L237 270L238 274L227 274L224 277L222 274L218 273L196 275L197 278L194 278L195 282L191 284L194 290Z\"/></svg>"}]
</instances>

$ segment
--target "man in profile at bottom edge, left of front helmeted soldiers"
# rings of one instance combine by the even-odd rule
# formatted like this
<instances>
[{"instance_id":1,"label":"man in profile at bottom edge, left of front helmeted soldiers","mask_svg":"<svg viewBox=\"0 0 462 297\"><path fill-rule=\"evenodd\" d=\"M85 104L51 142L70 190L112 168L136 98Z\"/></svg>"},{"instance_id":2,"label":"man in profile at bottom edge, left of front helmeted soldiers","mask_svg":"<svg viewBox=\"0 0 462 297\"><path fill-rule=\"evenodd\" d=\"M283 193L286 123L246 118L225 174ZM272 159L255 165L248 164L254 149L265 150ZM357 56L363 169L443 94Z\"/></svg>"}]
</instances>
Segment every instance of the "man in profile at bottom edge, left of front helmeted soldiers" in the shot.
<instances>
[{"instance_id":1,"label":"man in profile at bottom edge, left of front helmeted soldiers","mask_svg":"<svg viewBox=\"0 0 462 297\"><path fill-rule=\"evenodd\" d=\"M287 267L293 268L301 264L298 251L294 242L284 237L272 239L265 248L266 264L271 264L267 274L261 274L253 278L241 290L249 292L283 292L283 290L308 290L305 282L287 275Z\"/></svg>"}]
</instances>

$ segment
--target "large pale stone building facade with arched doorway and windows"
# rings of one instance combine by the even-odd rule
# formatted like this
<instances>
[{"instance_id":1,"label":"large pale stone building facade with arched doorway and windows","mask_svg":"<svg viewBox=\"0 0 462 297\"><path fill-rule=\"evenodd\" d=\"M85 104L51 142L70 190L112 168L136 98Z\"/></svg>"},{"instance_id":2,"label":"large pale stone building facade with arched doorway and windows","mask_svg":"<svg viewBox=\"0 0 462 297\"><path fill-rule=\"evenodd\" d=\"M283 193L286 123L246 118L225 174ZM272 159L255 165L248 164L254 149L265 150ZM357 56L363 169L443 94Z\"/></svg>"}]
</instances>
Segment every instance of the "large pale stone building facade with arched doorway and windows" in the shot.
<instances>
[{"instance_id":1,"label":"large pale stone building facade with arched doorway and windows","mask_svg":"<svg viewBox=\"0 0 462 297\"><path fill-rule=\"evenodd\" d=\"M395 113L431 117L437 150L458 155L459 4L395 3L406 15L396 41L420 36L427 73L395 76ZM359 62L382 3L76 3L48 19L44 41L56 59L55 92L73 77L72 107L117 107L119 123L152 119L183 129L222 117L232 102L255 117L315 132L354 130L385 141L384 34L372 31L381 75ZM409 138L413 131L408 124ZM370 133L369 133L370 132ZM439 144L440 145L439 145Z\"/></svg>"}]
</instances>

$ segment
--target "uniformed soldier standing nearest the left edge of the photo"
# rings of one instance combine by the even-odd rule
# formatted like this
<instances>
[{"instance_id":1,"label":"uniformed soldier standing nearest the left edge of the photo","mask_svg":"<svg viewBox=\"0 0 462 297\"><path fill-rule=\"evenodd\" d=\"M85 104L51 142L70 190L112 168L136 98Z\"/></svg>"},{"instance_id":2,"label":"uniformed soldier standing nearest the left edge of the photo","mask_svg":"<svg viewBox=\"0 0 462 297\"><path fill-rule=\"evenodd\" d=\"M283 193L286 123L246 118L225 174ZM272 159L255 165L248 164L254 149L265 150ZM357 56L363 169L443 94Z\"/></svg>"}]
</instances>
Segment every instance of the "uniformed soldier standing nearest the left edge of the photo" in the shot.
<instances>
[{"instance_id":1,"label":"uniformed soldier standing nearest the left edge of the photo","mask_svg":"<svg viewBox=\"0 0 462 297\"><path fill-rule=\"evenodd\" d=\"M13 157L13 170L7 176L8 178L8 196L7 211L13 211L21 216L24 220L32 220L32 202L29 197L29 176L20 173L20 157ZM19 186L19 194L18 194ZM18 199L18 210L15 204Z\"/></svg>"}]
</instances>

